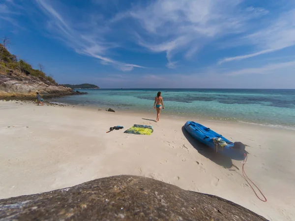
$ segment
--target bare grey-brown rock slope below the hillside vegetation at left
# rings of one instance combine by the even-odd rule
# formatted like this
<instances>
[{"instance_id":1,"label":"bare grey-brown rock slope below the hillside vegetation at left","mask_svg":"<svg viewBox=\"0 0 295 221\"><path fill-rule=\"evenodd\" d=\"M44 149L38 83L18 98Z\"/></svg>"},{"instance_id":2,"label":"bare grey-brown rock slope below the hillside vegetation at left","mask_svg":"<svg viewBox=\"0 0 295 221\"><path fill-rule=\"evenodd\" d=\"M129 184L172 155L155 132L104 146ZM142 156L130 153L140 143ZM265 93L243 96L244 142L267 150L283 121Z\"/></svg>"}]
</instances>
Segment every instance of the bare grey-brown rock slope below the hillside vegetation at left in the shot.
<instances>
[{"instance_id":1,"label":"bare grey-brown rock slope below the hillside vegetation at left","mask_svg":"<svg viewBox=\"0 0 295 221\"><path fill-rule=\"evenodd\" d=\"M13 95L16 97L34 97L36 92L47 97L78 94L69 87L44 80L43 78L27 76L25 74L17 75L17 73L10 75L0 74L0 97L11 97Z\"/></svg>"}]
</instances>

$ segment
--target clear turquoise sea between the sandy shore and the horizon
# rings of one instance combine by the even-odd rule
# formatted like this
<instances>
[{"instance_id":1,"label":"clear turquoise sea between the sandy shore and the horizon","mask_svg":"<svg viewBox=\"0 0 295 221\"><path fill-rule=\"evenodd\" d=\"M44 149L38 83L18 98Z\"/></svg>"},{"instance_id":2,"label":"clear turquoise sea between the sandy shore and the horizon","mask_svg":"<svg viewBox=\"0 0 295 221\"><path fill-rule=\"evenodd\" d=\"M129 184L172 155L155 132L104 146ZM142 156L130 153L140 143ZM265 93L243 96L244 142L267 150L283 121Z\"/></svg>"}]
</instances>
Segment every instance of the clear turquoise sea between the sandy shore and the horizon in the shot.
<instances>
[{"instance_id":1,"label":"clear turquoise sea between the sandy shore and the horizon","mask_svg":"<svg viewBox=\"0 0 295 221\"><path fill-rule=\"evenodd\" d=\"M152 112L158 91L163 114L295 128L295 90L287 89L79 89L86 95L54 99L70 105Z\"/></svg>"}]
</instances>

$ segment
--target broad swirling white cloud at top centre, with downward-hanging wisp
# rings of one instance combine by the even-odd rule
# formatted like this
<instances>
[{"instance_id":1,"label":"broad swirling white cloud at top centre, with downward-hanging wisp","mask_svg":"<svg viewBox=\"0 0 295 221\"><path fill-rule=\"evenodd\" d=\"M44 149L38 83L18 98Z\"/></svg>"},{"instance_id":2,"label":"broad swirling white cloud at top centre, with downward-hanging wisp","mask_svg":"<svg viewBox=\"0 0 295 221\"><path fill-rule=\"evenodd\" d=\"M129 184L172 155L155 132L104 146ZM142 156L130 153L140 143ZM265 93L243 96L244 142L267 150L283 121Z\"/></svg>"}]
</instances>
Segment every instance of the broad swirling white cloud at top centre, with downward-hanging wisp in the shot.
<instances>
[{"instance_id":1,"label":"broad swirling white cloud at top centre, with downward-hanging wisp","mask_svg":"<svg viewBox=\"0 0 295 221\"><path fill-rule=\"evenodd\" d=\"M243 32L251 19L266 15L263 8L239 7L242 0L155 0L117 14L112 23L132 18L140 25L138 44L151 52L166 52L167 67L179 52L190 58L218 37ZM143 31L144 30L144 31Z\"/></svg>"}]
</instances>

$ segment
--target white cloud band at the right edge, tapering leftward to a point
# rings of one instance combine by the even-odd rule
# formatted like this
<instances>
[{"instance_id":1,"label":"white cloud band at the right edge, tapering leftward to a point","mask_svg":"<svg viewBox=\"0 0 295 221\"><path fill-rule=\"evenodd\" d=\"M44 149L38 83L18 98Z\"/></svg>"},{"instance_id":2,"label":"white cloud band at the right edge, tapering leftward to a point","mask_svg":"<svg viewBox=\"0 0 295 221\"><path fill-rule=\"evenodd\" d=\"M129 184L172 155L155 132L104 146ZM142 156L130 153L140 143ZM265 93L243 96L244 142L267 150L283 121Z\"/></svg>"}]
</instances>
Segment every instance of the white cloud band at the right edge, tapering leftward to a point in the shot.
<instances>
[{"instance_id":1,"label":"white cloud band at the right edge, tapering leftward to a point","mask_svg":"<svg viewBox=\"0 0 295 221\"><path fill-rule=\"evenodd\" d=\"M268 27L247 35L245 39L247 44L255 46L258 52L226 57L218 63L242 60L295 46L295 9L282 14L279 18L270 22Z\"/></svg>"}]
</instances>

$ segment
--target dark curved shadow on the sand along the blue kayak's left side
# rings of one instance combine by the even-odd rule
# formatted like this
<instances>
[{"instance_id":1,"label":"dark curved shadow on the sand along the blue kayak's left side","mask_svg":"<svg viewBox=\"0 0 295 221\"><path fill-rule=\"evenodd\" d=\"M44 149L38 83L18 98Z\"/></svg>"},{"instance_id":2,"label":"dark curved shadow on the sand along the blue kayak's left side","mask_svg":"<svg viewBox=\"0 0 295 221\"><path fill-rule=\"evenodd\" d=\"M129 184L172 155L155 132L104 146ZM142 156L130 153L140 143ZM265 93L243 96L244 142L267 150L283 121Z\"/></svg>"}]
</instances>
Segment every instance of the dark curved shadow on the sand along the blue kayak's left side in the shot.
<instances>
[{"instance_id":1,"label":"dark curved shadow on the sand along the blue kayak's left side","mask_svg":"<svg viewBox=\"0 0 295 221\"><path fill-rule=\"evenodd\" d=\"M199 152L199 154L202 154L204 157L208 158L210 161L219 166L223 166L225 168L231 168L233 166L233 161L230 157L226 157L220 153L216 153L210 147L190 136L190 134L185 130L184 126L182 126L181 130L184 137Z\"/></svg>"}]
</instances>

